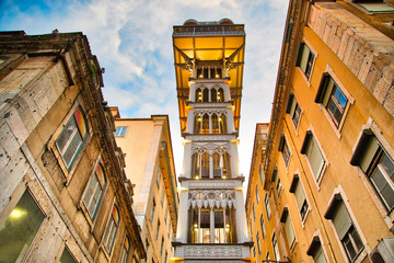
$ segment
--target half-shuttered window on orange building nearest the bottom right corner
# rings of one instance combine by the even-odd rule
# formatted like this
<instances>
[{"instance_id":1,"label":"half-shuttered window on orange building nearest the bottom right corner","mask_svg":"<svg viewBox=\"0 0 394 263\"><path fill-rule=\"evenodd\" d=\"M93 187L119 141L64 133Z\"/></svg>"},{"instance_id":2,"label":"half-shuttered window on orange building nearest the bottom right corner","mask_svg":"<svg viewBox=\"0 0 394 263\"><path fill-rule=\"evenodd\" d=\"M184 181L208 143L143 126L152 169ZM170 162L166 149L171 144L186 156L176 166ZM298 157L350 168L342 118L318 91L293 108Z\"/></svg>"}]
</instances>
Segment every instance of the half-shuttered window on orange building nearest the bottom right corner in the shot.
<instances>
[{"instance_id":1,"label":"half-shuttered window on orange building nearest the bottom right corner","mask_svg":"<svg viewBox=\"0 0 394 263\"><path fill-rule=\"evenodd\" d=\"M348 259L354 262L363 249L363 244L340 194L334 196L324 217L333 221Z\"/></svg>"}]
</instances>

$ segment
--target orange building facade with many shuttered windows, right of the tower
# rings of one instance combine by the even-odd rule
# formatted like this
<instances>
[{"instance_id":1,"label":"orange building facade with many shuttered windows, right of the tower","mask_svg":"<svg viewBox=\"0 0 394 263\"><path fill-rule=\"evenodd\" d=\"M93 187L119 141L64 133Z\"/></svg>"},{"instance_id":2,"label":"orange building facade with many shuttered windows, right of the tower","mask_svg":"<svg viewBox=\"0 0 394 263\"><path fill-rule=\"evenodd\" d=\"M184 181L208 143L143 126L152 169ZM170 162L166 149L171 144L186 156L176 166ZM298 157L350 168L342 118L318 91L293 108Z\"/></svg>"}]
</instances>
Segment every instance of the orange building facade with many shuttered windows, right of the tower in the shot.
<instances>
[{"instance_id":1,"label":"orange building facade with many shuttered windows, right of the tower","mask_svg":"<svg viewBox=\"0 0 394 263\"><path fill-rule=\"evenodd\" d=\"M393 20L393 1L290 1L246 201L259 261L394 262Z\"/></svg>"}]
</instances>

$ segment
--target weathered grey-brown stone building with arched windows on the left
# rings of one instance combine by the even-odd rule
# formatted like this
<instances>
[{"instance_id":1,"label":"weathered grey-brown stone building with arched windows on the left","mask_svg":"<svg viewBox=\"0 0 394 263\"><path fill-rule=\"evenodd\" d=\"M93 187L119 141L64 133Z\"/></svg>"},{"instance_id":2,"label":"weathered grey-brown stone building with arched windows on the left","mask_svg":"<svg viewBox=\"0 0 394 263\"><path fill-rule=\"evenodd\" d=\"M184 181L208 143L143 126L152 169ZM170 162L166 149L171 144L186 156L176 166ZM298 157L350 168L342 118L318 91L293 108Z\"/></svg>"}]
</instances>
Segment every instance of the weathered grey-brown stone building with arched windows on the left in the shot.
<instances>
[{"instance_id":1,"label":"weathered grey-brown stone building with arched windows on the left","mask_svg":"<svg viewBox=\"0 0 394 263\"><path fill-rule=\"evenodd\" d=\"M0 33L0 261L140 262L102 69L82 33Z\"/></svg>"}]
</instances>

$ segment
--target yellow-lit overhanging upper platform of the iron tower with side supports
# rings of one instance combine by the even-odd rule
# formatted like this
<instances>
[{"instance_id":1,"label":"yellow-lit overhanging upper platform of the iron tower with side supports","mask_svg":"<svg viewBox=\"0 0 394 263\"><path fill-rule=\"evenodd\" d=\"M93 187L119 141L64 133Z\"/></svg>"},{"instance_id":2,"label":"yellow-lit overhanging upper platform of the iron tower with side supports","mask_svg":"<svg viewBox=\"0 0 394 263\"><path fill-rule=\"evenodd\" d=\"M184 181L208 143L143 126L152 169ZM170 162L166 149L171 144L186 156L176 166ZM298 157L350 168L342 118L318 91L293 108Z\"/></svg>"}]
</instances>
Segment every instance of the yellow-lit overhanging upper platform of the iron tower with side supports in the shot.
<instances>
[{"instance_id":1,"label":"yellow-lit overhanging upper platform of the iron tower with side supports","mask_svg":"<svg viewBox=\"0 0 394 263\"><path fill-rule=\"evenodd\" d=\"M187 20L183 25L174 26L173 48L182 132L186 128L189 83L196 80L193 71L196 66L205 64L220 65L225 71L225 77L217 81L230 85L234 126L239 130L245 36L244 25L234 24L229 19L213 22Z\"/></svg>"}]
</instances>

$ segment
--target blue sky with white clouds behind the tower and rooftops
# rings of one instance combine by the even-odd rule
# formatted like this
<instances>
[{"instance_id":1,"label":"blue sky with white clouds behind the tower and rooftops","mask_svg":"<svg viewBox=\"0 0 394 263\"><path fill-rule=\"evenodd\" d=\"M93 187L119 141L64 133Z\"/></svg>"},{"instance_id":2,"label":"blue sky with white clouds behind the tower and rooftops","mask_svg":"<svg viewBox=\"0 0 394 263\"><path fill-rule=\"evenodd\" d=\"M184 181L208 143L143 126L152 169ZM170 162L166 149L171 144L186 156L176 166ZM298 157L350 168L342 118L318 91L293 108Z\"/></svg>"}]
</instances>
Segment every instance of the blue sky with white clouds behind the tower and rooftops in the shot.
<instances>
[{"instance_id":1,"label":"blue sky with white clouds behind the tower and rooftops","mask_svg":"<svg viewBox=\"0 0 394 263\"><path fill-rule=\"evenodd\" d=\"M231 19L246 32L240 168L248 176L256 123L270 121L288 0L0 0L0 31L83 32L105 68L104 99L121 117L167 114L179 175L173 25ZM247 182L247 180L246 180ZM246 187L246 185L245 185Z\"/></svg>"}]
</instances>

